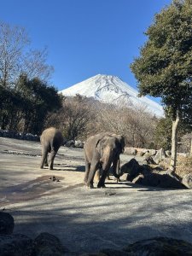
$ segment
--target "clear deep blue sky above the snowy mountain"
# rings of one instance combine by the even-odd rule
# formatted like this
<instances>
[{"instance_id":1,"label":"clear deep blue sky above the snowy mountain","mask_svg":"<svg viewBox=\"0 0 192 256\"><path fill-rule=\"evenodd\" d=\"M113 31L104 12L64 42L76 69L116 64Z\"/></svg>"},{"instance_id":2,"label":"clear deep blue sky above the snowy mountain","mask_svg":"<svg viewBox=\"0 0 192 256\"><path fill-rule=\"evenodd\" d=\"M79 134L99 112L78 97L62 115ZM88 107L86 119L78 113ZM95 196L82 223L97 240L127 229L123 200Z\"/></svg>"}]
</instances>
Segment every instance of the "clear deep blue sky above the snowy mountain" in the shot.
<instances>
[{"instance_id":1,"label":"clear deep blue sky above the snowy mountain","mask_svg":"<svg viewBox=\"0 0 192 256\"><path fill-rule=\"evenodd\" d=\"M0 20L24 26L32 48L49 50L51 79L63 90L98 73L137 88L130 63L154 14L171 0L6 0Z\"/></svg>"}]
</instances>

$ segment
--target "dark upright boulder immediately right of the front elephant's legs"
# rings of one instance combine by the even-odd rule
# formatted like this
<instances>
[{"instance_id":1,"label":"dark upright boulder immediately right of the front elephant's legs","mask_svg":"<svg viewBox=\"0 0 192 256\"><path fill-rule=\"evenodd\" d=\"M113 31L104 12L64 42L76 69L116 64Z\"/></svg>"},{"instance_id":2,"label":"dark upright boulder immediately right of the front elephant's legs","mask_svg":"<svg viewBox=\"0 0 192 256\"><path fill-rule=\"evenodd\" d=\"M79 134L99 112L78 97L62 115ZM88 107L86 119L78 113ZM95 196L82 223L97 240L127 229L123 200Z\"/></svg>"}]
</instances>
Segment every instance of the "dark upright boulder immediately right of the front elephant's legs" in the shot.
<instances>
[{"instance_id":1,"label":"dark upright boulder immediately right of the front elephant's legs","mask_svg":"<svg viewBox=\"0 0 192 256\"><path fill-rule=\"evenodd\" d=\"M133 178L137 177L140 172L141 166L134 158L132 158L128 163L125 163L125 165L121 166L120 168L120 176L124 173L127 173L128 181L132 181Z\"/></svg>"}]
</instances>

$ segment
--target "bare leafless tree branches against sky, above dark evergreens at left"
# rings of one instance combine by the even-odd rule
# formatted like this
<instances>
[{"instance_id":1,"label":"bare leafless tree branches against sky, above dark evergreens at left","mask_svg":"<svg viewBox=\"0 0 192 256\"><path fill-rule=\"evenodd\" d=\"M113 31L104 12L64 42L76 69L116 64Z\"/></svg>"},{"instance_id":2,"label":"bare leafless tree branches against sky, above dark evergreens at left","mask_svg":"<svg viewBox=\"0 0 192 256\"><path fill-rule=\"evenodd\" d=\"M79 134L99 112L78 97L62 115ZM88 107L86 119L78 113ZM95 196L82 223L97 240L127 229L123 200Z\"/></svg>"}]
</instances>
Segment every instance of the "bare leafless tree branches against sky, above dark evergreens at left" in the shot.
<instances>
[{"instance_id":1,"label":"bare leafless tree branches against sky, above dark evergreens at left","mask_svg":"<svg viewBox=\"0 0 192 256\"><path fill-rule=\"evenodd\" d=\"M9 26L0 22L0 84L14 87L20 73L29 79L38 77L46 82L53 67L46 64L47 49L29 49L26 30L20 26Z\"/></svg>"}]
</instances>

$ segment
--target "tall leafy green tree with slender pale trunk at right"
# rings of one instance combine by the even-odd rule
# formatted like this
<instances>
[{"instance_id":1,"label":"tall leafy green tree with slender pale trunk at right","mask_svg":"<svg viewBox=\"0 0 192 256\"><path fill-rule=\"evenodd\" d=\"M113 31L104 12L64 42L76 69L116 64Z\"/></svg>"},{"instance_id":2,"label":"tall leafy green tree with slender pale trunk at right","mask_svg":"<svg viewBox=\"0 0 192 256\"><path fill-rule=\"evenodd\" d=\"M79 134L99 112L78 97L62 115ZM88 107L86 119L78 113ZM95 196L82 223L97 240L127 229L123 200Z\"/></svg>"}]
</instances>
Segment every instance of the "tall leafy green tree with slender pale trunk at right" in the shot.
<instances>
[{"instance_id":1,"label":"tall leafy green tree with slender pale trunk at right","mask_svg":"<svg viewBox=\"0 0 192 256\"><path fill-rule=\"evenodd\" d=\"M192 3L173 1L155 15L145 33L148 41L131 64L140 96L161 97L172 119L172 160L177 160L177 126L191 122L192 110Z\"/></svg>"}]
</instances>

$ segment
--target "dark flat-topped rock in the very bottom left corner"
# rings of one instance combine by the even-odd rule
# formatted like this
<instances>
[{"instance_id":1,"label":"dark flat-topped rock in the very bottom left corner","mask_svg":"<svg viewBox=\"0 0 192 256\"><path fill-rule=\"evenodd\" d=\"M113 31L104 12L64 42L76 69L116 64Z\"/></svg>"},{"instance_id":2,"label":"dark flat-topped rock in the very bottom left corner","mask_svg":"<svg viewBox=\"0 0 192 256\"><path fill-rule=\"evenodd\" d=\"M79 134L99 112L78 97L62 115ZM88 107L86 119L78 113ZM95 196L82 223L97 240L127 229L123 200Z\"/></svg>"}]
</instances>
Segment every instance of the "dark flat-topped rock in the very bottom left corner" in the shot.
<instances>
[{"instance_id":1,"label":"dark flat-topped rock in the very bottom left corner","mask_svg":"<svg viewBox=\"0 0 192 256\"><path fill-rule=\"evenodd\" d=\"M1 256L32 256L32 239L21 234L0 236Z\"/></svg>"}]
</instances>

